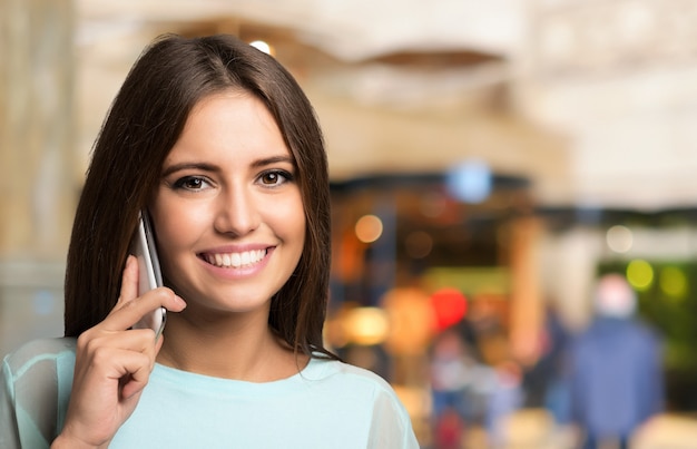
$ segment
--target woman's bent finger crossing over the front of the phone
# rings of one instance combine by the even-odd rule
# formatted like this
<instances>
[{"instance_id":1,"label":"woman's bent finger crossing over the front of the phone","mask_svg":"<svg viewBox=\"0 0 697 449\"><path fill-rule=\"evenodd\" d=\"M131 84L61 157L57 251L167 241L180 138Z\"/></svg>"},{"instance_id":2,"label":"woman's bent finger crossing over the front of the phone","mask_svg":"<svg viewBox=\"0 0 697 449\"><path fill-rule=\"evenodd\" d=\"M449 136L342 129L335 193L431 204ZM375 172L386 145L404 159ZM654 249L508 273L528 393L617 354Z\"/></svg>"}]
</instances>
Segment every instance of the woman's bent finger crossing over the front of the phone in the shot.
<instances>
[{"instance_id":1,"label":"woman's bent finger crossing over the front of the phone","mask_svg":"<svg viewBox=\"0 0 697 449\"><path fill-rule=\"evenodd\" d=\"M158 308L180 312L186 308L186 303L168 287L155 289L136 300L117 304L102 321L101 326L109 331L124 331L131 328L146 313L151 313Z\"/></svg>"}]
</instances>

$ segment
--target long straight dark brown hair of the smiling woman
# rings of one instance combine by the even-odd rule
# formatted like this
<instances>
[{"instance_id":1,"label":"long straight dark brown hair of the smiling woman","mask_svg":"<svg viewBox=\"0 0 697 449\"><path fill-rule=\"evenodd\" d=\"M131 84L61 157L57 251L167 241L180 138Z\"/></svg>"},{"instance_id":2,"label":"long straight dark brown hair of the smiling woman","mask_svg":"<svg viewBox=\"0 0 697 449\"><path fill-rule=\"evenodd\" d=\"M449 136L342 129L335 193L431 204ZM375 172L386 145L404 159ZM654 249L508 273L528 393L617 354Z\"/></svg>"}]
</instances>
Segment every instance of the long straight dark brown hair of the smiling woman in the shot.
<instances>
[{"instance_id":1,"label":"long straight dark brown hair of the smiling woman","mask_svg":"<svg viewBox=\"0 0 697 449\"><path fill-rule=\"evenodd\" d=\"M306 217L295 272L272 300L269 325L291 348L328 354L322 328L328 295L330 191L324 140L295 79L273 57L233 36L167 35L138 58L105 119L72 228L66 271L65 333L106 318L119 295L138 212L165 157L203 98L243 90L275 118L297 167Z\"/></svg>"}]
</instances>

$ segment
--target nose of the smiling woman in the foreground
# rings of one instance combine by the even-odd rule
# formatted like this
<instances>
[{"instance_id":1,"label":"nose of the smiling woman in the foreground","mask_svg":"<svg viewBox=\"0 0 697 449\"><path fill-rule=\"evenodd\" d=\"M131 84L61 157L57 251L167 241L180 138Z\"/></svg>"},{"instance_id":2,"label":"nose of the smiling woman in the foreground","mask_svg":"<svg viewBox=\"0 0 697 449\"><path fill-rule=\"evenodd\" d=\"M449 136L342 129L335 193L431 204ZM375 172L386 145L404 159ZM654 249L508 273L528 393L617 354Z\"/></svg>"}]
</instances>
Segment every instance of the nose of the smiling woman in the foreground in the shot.
<instances>
[{"instance_id":1,"label":"nose of the smiling woman in the foreground","mask_svg":"<svg viewBox=\"0 0 697 449\"><path fill-rule=\"evenodd\" d=\"M254 194L245 188L227 189L218 196L214 226L222 234L242 236L261 223Z\"/></svg>"}]
</instances>

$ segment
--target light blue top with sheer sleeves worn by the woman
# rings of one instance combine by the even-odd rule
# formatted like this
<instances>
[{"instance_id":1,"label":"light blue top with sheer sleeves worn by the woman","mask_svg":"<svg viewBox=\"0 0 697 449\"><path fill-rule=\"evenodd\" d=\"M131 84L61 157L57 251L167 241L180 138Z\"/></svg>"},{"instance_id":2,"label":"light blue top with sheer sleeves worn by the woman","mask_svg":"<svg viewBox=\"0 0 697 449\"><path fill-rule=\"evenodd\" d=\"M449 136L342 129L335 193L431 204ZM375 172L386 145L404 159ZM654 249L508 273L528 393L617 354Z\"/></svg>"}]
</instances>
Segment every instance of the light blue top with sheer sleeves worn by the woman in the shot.
<instances>
[{"instance_id":1,"label":"light blue top with sheer sleeves worn by the woman","mask_svg":"<svg viewBox=\"0 0 697 449\"><path fill-rule=\"evenodd\" d=\"M63 424L75 339L38 340L3 360L0 448L47 448ZM156 364L111 448L409 448L419 445L392 388L371 371L312 359L253 383Z\"/></svg>"}]
</instances>

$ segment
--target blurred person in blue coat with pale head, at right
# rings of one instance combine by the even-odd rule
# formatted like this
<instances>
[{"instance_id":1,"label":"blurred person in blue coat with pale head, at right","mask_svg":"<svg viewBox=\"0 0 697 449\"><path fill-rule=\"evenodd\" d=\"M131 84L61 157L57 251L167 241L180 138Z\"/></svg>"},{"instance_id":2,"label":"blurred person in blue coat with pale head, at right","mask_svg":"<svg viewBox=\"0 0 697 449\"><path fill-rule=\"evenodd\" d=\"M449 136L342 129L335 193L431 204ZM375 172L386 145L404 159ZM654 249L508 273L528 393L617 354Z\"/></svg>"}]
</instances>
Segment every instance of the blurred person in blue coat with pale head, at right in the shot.
<instances>
[{"instance_id":1,"label":"blurred person in blue coat with pale head, at right","mask_svg":"<svg viewBox=\"0 0 697 449\"><path fill-rule=\"evenodd\" d=\"M599 279L596 318L571 348L572 417L583 448L627 448L632 433L664 407L660 343L635 319L637 297L624 276Z\"/></svg>"}]
</instances>

